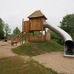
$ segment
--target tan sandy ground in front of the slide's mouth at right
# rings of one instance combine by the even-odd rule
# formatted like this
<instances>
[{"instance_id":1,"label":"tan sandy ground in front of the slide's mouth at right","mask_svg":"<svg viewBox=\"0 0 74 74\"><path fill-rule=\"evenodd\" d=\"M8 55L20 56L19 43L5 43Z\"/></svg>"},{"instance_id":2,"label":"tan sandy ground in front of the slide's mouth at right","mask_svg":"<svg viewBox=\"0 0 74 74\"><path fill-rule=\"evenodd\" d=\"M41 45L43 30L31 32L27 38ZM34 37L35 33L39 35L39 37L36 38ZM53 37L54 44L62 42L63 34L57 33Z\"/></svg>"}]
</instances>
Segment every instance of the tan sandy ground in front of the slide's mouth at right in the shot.
<instances>
[{"instance_id":1,"label":"tan sandy ground in front of the slide's mouth at right","mask_svg":"<svg viewBox=\"0 0 74 74\"><path fill-rule=\"evenodd\" d=\"M74 58L64 57L62 52L47 53L33 59L59 73L74 74Z\"/></svg>"}]
</instances>

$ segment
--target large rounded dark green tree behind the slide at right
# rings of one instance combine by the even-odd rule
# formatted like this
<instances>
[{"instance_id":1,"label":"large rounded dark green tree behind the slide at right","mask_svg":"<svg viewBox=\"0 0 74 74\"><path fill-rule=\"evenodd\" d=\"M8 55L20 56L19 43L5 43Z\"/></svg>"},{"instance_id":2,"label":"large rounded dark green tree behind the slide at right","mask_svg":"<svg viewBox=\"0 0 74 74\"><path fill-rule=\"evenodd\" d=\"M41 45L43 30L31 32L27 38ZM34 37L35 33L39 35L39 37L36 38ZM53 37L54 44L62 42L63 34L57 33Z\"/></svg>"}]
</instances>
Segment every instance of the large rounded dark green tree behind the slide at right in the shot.
<instances>
[{"instance_id":1,"label":"large rounded dark green tree behind the slide at right","mask_svg":"<svg viewBox=\"0 0 74 74\"><path fill-rule=\"evenodd\" d=\"M68 32L74 39L74 14L66 15L63 18L60 27Z\"/></svg>"}]
</instances>

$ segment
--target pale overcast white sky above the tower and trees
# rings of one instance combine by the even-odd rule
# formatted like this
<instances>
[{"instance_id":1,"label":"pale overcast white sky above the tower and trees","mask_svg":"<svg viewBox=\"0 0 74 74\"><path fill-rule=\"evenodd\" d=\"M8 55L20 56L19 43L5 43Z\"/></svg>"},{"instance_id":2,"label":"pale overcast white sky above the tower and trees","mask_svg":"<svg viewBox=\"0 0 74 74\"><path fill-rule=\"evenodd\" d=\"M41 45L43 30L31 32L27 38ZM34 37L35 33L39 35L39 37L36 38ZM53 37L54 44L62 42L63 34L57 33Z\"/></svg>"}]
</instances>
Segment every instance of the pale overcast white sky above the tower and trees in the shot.
<instances>
[{"instance_id":1,"label":"pale overcast white sky above the tower and trees","mask_svg":"<svg viewBox=\"0 0 74 74\"><path fill-rule=\"evenodd\" d=\"M22 28L22 18L41 10L52 25L60 25L63 17L74 13L74 0L0 0L0 18L11 30Z\"/></svg>"}]
</instances>

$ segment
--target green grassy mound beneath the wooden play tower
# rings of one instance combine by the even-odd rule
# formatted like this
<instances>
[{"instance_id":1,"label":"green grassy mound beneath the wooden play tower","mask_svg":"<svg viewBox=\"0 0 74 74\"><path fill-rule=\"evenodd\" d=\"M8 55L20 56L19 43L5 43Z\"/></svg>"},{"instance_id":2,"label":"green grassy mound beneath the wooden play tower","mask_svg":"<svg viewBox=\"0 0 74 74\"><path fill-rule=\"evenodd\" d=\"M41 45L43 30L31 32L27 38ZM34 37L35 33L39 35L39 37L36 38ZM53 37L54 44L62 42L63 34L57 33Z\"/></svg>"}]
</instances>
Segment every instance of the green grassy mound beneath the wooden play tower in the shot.
<instances>
[{"instance_id":1,"label":"green grassy mound beneath the wooden play tower","mask_svg":"<svg viewBox=\"0 0 74 74\"><path fill-rule=\"evenodd\" d=\"M19 47L13 48L14 53L20 55L36 56L46 52L63 51L63 46L54 42L25 43Z\"/></svg>"}]
</instances>

